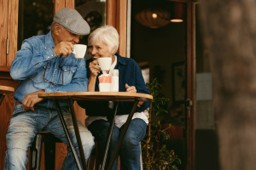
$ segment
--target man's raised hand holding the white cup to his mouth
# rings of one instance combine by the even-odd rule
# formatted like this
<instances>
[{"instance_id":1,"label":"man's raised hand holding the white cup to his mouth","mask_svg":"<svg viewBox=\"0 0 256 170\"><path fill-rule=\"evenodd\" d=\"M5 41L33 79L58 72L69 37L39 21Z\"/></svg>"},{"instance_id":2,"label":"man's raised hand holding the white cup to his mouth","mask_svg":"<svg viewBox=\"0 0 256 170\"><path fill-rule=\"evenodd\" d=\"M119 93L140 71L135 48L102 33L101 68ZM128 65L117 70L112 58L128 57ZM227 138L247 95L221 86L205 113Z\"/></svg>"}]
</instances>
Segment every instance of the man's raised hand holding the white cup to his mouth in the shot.
<instances>
[{"instance_id":1,"label":"man's raised hand holding the white cup to his mouth","mask_svg":"<svg viewBox=\"0 0 256 170\"><path fill-rule=\"evenodd\" d=\"M62 57L69 56L71 54L71 50L73 50L72 42L60 42L53 48L55 54L57 56L62 54Z\"/></svg>"}]
</instances>

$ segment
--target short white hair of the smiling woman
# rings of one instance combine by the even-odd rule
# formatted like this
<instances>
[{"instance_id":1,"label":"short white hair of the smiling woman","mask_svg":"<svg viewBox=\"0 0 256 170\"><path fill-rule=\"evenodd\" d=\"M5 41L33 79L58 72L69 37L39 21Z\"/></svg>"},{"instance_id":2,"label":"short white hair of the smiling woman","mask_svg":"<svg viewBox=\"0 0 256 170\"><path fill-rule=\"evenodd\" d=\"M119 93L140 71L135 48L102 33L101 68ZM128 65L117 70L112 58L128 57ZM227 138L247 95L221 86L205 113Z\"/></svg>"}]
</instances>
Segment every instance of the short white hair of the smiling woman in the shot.
<instances>
[{"instance_id":1,"label":"short white hair of the smiling woman","mask_svg":"<svg viewBox=\"0 0 256 170\"><path fill-rule=\"evenodd\" d=\"M98 38L100 38L101 42L108 45L108 50L110 53L113 48L115 48L113 54L116 53L119 48L119 33L113 26L101 26L95 31L91 32L90 36L88 37L88 45L92 45Z\"/></svg>"}]
</instances>

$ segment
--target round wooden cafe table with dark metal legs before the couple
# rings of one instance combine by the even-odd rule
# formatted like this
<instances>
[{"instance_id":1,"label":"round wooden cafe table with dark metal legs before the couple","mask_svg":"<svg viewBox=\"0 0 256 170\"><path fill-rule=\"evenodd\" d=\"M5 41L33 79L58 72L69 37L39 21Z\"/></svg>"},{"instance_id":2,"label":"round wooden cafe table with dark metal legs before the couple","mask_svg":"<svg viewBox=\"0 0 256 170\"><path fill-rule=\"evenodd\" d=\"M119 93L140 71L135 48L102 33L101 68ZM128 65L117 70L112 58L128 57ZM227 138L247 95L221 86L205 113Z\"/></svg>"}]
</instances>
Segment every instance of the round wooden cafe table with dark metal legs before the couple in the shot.
<instances>
[{"instance_id":1,"label":"round wooden cafe table with dark metal legs before the couple","mask_svg":"<svg viewBox=\"0 0 256 170\"><path fill-rule=\"evenodd\" d=\"M107 139L107 144L105 146L105 153L103 156L103 160L102 163L100 164L100 169L104 170L105 167L105 163L106 163L106 158L108 155L108 146L110 143L110 139L111 139L111 134L112 134L112 130L113 130L113 123L114 123L114 119L116 116L116 112L117 112L117 108L119 105L119 101L129 101L129 102L133 102L133 106L131 108L131 112L127 118L127 121L125 123L125 127L123 129L123 132L121 133L120 137L119 137L119 141L118 144L113 152L113 156L111 158L111 161L109 162L108 165L108 170L110 170L113 167L113 162L116 158L116 156L118 156L119 153L119 149L121 147L121 144L125 138L125 133L127 132L127 129L130 125L131 122L131 118L134 114L134 112L137 109L137 103L139 101L151 101L153 99L152 95L148 95L148 94L139 94L139 93L127 93L127 92L55 92L55 93L44 93L44 94L38 94L39 98L44 98L44 99L53 99L54 103L55 103L55 107L56 110L58 111L58 114L60 116L61 119L61 124L62 127L64 128L64 131L66 133L67 136L67 141L68 144L70 145L70 148L72 150L73 156L75 158L76 164L79 168L79 170L82 170L82 167L79 163L79 158L78 155L76 153L76 151L74 150L73 147L73 143L72 140L70 139L70 135L68 133L67 130L67 125L66 122L64 121L64 118L62 116L61 113L61 108L60 105L58 103L58 99L67 99L68 100L68 105L70 107L70 111L72 114L72 120L73 120L73 127L75 130L75 134L76 134L76 138L79 144L79 153L81 156L81 160L82 160L82 165L84 170L87 169L86 167L86 161L85 161L85 157L84 157L84 150L83 150L83 146L82 146L82 142L81 142L81 138L80 138L80 134L79 134L79 127L78 127L78 123L77 123L77 119L76 119L76 115L75 115L75 111L73 108L73 100L92 100L92 101L113 101L113 114L108 116L110 117L110 126L108 128L108 139Z\"/></svg>"}]
</instances>

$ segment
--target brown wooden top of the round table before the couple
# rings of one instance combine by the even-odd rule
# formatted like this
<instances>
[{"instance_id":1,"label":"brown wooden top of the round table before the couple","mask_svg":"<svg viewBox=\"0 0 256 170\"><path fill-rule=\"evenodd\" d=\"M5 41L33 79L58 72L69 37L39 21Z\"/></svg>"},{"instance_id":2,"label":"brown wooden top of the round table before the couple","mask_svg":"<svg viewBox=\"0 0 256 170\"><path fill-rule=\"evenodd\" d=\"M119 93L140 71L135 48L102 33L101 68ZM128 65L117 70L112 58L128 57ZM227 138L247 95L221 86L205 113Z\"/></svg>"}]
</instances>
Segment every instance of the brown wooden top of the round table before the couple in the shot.
<instances>
[{"instance_id":1,"label":"brown wooden top of the round table before the couple","mask_svg":"<svg viewBox=\"0 0 256 170\"><path fill-rule=\"evenodd\" d=\"M55 92L38 94L39 98L44 99L67 99L68 97L74 100L110 100L110 101L151 101L152 95L128 92Z\"/></svg>"}]
</instances>

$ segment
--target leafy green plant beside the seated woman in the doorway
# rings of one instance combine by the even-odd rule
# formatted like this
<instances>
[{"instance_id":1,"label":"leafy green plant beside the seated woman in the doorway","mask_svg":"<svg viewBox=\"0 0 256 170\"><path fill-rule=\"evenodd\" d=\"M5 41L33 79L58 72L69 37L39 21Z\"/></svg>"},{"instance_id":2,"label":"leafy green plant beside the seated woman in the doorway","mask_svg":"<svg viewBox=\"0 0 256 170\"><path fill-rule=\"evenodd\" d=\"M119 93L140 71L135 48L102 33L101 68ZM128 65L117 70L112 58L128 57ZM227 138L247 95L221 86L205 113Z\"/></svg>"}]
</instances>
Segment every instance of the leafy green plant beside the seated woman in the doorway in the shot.
<instances>
[{"instance_id":1,"label":"leafy green plant beside the seated woman in the doorway","mask_svg":"<svg viewBox=\"0 0 256 170\"><path fill-rule=\"evenodd\" d=\"M149 93L153 96L153 100L148 111L148 132L142 141L143 168L146 170L176 170L176 165L181 163L180 159L174 154L174 150L166 150L166 145L160 144L161 134L166 134L166 139L170 138L170 134L166 133L166 129L172 128L172 125L169 124L169 127L162 129L160 122L158 122L153 127L153 122L151 120L152 114L162 116L167 113L167 111L163 109L162 105L165 105L169 99L158 94L161 85L156 78L153 82L147 83L146 86Z\"/></svg>"}]
</instances>

